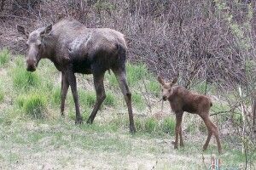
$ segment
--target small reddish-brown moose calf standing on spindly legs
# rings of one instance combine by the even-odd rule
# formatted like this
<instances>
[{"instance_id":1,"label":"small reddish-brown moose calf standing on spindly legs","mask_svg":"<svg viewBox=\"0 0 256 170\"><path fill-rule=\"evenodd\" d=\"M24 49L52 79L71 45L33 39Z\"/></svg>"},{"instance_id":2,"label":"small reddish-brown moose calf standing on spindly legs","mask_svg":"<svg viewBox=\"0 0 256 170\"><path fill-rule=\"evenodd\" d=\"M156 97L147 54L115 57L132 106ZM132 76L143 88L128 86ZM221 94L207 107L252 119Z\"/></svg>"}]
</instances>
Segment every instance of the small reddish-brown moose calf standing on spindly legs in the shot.
<instances>
[{"instance_id":1,"label":"small reddish-brown moose calf standing on spindly legs","mask_svg":"<svg viewBox=\"0 0 256 170\"><path fill-rule=\"evenodd\" d=\"M160 82L162 87L163 100L169 100L172 111L174 111L176 115L175 141L173 142L174 149L177 149L178 135L180 138L180 146L183 146L181 123L183 112L187 111L201 116L207 126L208 137L206 144L203 146L203 150L207 150L213 133L217 140L218 152L221 153L218 128L211 122L209 117L209 111L212 106L211 99L207 98L205 95L194 94L183 87L173 86L177 82L177 78L174 78L171 82L165 82L161 77L158 77L158 82Z\"/></svg>"}]
</instances>

